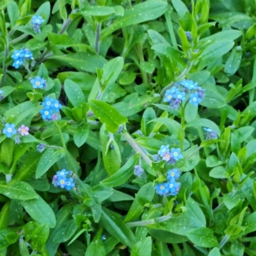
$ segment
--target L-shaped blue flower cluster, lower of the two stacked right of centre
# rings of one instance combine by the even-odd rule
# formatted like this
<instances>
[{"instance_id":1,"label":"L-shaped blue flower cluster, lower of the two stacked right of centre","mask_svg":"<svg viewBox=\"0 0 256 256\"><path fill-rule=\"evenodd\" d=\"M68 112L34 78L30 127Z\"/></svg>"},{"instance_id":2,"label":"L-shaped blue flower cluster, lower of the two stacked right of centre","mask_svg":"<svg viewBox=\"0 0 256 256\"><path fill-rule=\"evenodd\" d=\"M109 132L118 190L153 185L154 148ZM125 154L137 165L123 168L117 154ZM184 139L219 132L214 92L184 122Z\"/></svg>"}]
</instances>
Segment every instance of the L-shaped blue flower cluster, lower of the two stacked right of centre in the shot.
<instances>
[{"instance_id":1,"label":"L-shaped blue flower cluster, lower of the two stacked right of centre","mask_svg":"<svg viewBox=\"0 0 256 256\"><path fill-rule=\"evenodd\" d=\"M175 196L179 193L180 182L177 179L180 177L180 170L175 168L168 170L167 172L167 182L158 184L155 186L156 193L161 196Z\"/></svg>"}]
</instances>

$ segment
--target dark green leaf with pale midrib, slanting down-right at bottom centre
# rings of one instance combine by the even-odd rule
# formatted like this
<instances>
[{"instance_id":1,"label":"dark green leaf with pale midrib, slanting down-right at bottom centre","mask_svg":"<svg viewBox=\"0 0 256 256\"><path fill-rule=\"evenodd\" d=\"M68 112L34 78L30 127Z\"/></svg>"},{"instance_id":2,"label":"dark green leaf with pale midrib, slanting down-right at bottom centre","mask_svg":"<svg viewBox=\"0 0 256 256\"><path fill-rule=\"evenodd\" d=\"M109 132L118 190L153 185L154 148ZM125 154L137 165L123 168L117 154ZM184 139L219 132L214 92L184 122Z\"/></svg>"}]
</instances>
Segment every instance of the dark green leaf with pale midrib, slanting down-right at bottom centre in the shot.
<instances>
[{"instance_id":1,"label":"dark green leaf with pale midrib, slanting down-right at bottom centre","mask_svg":"<svg viewBox=\"0 0 256 256\"><path fill-rule=\"evenodd\" d=\"M119 214L108 209L102 211L100 218L102 225L115 239L132 248L135 244L135 237L131 229L125 225Z\"/></svg>"}]
</instances>

